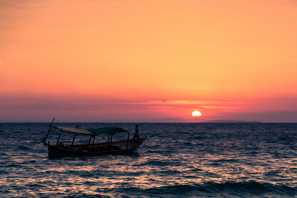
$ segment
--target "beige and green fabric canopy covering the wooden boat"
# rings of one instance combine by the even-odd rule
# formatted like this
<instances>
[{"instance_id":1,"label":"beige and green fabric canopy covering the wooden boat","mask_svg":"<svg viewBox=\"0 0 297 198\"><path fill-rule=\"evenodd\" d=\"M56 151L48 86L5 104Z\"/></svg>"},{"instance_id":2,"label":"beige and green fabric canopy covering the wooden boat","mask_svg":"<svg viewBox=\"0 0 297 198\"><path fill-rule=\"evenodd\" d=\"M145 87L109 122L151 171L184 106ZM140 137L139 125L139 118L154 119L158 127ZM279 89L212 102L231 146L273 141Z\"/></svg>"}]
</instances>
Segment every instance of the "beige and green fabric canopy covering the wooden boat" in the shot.
<instances>
[{"instance_id":1,"label":"beige and green fabric canopy covering the wooden boat","mask_svg":"<svg viewBox=\"0 0 297 198\"><path fill-rule=\"evenodd\" d=\"M108 126L96 129L78 129L78 128L69 128L69 127L61 127L61 126L52 126L54 128L62 130L62 133L73 133L73 134L84 134L84 135L99 135L99 134L110 134L113 135L115 133L129 133L126 130L115 127Z\"/></svg>"}]
</instances>

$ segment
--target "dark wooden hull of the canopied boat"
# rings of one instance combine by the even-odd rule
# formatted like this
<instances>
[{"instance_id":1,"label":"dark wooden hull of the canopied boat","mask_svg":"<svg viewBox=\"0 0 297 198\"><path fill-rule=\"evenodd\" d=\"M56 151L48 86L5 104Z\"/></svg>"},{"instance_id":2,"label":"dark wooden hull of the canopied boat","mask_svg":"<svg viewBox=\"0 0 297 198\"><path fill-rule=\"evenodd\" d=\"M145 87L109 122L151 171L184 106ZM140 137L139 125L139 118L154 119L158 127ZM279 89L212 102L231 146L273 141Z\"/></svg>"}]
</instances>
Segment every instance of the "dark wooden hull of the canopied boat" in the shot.
<instances>
[{"instance_id":1,"label":"dark wooden hull of the canopied boat","mask_svg":"<svg viewBox=\"0 0 297 198\"><path fill-rule=\"evenodd\" d=\"M103 151L103 152L92 152L92 151L78 151L73 145L73 148L70 147L61 147L56 145L47 145L48 146L48 156L49 158L61 158L61 157L83 157L83 156L106 156L106 155L128 155L136 151L136 149L142 144L146 137L141 138L140 142L135 145L130 145L127 149L120 149L115 151ZM122 144L125 144L124 141L119 141ZM132 143L132 140L129 140ZM118 142L113 142L113 145L116 145ZM127 144L127 140L126 140ZM75 149L75 150L74 150ZM90 147L90 150L92 148Z\"/></svg>"}]
</instances>

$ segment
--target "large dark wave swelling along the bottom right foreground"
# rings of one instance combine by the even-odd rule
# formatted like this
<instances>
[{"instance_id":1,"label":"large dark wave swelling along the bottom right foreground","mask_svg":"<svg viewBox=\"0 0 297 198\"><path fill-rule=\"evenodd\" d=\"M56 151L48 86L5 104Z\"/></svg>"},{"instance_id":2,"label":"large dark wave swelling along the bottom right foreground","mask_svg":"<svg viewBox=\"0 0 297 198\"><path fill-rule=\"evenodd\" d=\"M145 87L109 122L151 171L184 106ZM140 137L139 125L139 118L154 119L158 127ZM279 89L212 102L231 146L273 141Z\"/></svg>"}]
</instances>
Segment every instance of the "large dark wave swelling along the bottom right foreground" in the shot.
<instances>
[{"instance_id":1,"label":"large dark wave swelling along the bottom right foreground","mask_svg":"<svg viewBox=\"0 0 297 198\"><path fill-rule=\"evenodd\" d=\"M102 192L102 190L100 190ZM104 190L103 190L104 191ZM294 197L297 189L285 185L271 183L259 183L256 181L207 182L204 184L178 184L170 186L153 187L142 189L139 187L121 187L108 190L120 194L133 194L139 197ZM249 195L249 196L247 196Z\"/></svg>"}]
</instances>

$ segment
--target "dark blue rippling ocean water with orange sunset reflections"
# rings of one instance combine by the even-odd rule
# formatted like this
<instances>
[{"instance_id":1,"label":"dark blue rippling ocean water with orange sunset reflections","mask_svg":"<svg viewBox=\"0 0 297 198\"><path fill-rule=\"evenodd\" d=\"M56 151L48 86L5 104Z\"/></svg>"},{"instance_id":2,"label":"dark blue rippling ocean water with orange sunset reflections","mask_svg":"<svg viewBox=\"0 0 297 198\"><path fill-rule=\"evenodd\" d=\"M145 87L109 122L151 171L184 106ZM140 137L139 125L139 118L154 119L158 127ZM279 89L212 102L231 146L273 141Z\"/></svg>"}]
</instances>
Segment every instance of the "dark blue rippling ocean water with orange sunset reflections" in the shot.
<instances>
[{"instance_id":1,"label":"dark blue rippling ocean water with orange sunset reflections","mask_svg":"<svg viewBox=\"0 0 297 198\"><path fill-rule=\"evenodd\" d=\"M49 159L49 123L0 123L0 197L297 197L297 123L138 125L132 155Z\"/></svg>"}]
</instances>

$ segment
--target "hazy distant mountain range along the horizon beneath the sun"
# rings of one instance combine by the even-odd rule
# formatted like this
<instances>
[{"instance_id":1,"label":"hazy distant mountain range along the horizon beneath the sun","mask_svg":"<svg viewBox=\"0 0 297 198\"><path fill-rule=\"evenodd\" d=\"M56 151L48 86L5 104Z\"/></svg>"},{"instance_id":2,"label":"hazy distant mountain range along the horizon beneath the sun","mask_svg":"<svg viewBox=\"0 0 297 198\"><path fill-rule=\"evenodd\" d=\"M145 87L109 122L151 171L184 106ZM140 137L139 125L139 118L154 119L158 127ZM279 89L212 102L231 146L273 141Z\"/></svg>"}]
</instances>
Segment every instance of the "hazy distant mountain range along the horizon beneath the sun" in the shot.
<instances>
[{"instance_id":1,"label":"hazy distant mountain range along the horizon beneath the sun","mask_svg":"<svg viewBox=\"0 0 297 198\"><path fill-rule=\"evenodd\" d=\"M41 122L41 123L48 123L48 121L34 121L34 120L1 120L0 123L28 123L28 122ZM71 122L71 123L77 123L75 121L56 121L56 122ZM79 121L82 122L82 121ZM149 123L155 123L155 122L167 122L167 123L176 123L176 122L187 122L187 123L261 123L260 121L243 121L243 120L206 120L203 118L191 118L191 119L181 119L181 118L155 118L155 119L140 119L140 120L129 120L129 119L109 119L109 120L91 120L91 121L83 121L83 122L125 122L125 123L141 123L141 122L149 122Z\"/></svg>"}]
</instances>

